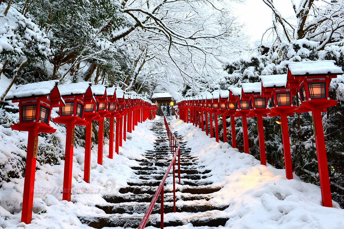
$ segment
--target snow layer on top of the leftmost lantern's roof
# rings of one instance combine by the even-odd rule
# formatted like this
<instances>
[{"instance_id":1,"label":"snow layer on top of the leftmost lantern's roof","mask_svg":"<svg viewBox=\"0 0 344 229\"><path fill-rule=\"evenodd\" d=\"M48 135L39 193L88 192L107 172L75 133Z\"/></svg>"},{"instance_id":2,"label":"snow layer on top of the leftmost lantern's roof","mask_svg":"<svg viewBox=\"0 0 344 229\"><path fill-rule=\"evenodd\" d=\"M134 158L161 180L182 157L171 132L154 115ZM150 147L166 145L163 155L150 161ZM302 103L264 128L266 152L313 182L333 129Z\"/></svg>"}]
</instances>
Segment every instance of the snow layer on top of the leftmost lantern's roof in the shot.
<instances>
[{"instance_id":1,"label":"snow layer on top of the leftmost lantern's roof","mask_svg":"<svg viewBox=\"0 0 344 229\"><path fill-rule=\"evenodd\" d=\"M6 96L6 100L50 95L58 82L58 80L50 80L18 85L13 92L9 92L9 94Z\"/></svg>"}]
</instances>

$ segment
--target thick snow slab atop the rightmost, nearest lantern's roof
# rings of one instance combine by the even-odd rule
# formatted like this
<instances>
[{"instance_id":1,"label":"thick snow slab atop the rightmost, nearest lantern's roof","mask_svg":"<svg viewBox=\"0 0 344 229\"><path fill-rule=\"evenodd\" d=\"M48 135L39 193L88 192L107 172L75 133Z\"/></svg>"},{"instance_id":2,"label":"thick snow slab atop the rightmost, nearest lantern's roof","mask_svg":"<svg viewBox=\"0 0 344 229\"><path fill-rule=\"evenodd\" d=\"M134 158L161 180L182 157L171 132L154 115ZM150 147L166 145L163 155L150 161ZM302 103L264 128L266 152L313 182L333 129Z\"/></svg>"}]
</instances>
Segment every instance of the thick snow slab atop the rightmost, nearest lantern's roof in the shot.
<instances>
[{"instance_id":1,"label":"thick snow slab atop the rightmost, nearest lantern's roof","mask_svg":"<svg viewBox=\"0 0 344 229\"><path fill-rule=\"evenodd\" d=\"M288 65L288 69L293 76L343 74L342 69L335 66L331 60L291 62Z\"/></svg>"}]
</instances>

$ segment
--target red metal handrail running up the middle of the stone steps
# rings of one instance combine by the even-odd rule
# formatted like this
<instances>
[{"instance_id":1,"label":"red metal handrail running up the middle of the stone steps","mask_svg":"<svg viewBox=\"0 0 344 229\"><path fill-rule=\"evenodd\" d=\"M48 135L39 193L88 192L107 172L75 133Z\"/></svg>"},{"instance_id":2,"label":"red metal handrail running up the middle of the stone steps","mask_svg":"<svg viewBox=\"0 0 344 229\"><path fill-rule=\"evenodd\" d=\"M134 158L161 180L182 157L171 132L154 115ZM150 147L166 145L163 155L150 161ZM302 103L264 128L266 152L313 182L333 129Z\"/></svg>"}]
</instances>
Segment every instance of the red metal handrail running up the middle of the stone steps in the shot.
<instances>
[{"instance_id":1,"label":"red metal handrail running up the middle of the stone steps","mask_svg":"<svg viewBox=\"0 0 344 229\"><path fill-rule=\"evenodd\" d=\"M152 199L150 205L148 206L146 213L143 216L143 219L142 219L138 229L143 229L146 226L148 218L149 218L150 214L152 213L153 207L154 207L155 203L157 202L159 193L160 193L160 199L161 199L160 228L161 229L164 228L164 183L166 181L167 175L169 174L172 166L173 166L173 173L172 173L173 174L173 212L175 212L175 163L176 163L176 156L178 154L178 179L179 179L179 184L180 184L180 144L177 141L174 134L172 133L165 116L164 116L164 123L165 123L165 127L167 130L167 135L169 137L169 142L170 142L170 147L171 147L171 152L172 152L173 158L172 158L172 161L171 161L169 167L167 168L167 171L166 171L164 177L162 178L162 180L159 184L158 190L155 192L153 199Z\"/></svg>"}]
</instances>

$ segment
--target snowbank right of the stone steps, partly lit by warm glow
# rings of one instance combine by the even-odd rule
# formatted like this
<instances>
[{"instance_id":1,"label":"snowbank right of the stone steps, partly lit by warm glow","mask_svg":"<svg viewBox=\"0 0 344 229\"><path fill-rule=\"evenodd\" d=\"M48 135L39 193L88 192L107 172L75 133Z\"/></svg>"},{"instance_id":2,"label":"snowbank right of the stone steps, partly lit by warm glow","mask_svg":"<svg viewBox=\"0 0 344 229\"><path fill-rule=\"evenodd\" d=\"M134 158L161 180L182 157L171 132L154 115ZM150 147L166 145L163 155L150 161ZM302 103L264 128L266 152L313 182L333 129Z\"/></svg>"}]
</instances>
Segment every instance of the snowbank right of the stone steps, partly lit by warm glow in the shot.
<instances>
[{"instance_id":1,"label":"snowbank right of the stone steps, partly lit by warm glow","mask_svg":"<svg viewBox=\"0 0 344 229\"><path fill-rule=\"evenodd\" d=\"M212 170L209 181L223 186L210 202L229 205L224 214L230 219L224 228L344 228L344 210L336 202L333 208L323 207L320 187L295 174L287 180L284 169L260 165L253 156L217 143L192 124L177 119L171 127L185 137L186 146L205 169Z\"/></svg>"}]
</instances>

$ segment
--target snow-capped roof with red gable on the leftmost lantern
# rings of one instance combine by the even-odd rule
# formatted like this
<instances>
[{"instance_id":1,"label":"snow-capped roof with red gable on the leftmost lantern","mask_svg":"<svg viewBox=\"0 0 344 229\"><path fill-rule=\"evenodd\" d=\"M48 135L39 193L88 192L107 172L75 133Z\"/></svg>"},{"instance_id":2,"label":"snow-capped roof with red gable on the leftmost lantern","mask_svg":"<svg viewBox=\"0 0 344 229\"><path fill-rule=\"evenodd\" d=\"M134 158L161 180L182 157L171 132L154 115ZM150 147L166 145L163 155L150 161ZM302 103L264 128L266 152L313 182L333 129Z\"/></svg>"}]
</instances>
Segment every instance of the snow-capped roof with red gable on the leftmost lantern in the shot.
<instances>
[{"instance_id":1,"label":"snow-capped roof with red gable on the leftmost lantern","mask_svg":"<svg viewBox=\"0 0 344 229\"><path fill-rule=\"evenodd\" d=\"M64 101L61 98L61 93L57 87L58 82L58 80L49 80L44 82L18 85L13 92L9 92L6 95L5 100L13 100L12 102L18 102L16 100L49 96L52 106L62 106L64 105Z\"/></svg>"}]
</instances>

